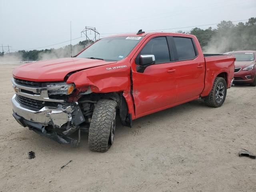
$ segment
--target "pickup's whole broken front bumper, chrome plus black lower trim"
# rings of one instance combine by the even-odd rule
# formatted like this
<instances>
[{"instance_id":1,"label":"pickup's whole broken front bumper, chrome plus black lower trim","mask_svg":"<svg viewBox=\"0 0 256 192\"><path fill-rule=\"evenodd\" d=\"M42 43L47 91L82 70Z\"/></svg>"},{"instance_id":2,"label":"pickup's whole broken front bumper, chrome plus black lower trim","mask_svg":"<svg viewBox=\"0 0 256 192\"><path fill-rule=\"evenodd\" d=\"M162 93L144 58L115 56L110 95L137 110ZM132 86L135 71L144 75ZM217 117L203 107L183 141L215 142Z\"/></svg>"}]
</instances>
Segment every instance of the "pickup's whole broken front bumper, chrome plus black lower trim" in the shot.
<instances>
[{"instance_id":1,"label":"pickup's whole broken front bumper, chrome plus black lower trim","mask_svg":"<svg viewBox=\"0 0 256 192\"><path fill-rule=\"evenodd\" d=\"M28 127L34 132L56 140L59 143L71 144L73 146L79 144L80 137L79 140L68 137L68 135L78 129L79 124L85 121L78 105L60 107L44 106L40 110L35 110L20 104L16 100L15 94L12 97L12 107L13 116L20 125ZM64 124L66 125L63 126ZM47 126L49 125L52 126L53 130L48 130Z\"/></svg>"}]
</instances>

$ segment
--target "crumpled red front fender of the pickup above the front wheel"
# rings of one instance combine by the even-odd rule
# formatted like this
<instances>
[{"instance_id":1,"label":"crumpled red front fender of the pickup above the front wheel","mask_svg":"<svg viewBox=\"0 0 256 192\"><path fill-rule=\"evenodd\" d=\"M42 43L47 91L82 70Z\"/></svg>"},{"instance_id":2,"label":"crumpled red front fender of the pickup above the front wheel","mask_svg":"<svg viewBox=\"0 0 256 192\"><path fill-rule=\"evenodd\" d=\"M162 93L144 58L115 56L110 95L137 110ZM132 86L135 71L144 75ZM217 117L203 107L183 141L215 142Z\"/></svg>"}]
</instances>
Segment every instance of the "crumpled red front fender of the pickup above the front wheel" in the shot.
<instances>
[{"instance_id":1,"label":"crumpled red front fender of the pickup above the front wheel","mask_svg":"<svg viewBox=\"0 0 256 192\"><path fill-rule=\"evenodd\" d=\"M108 67L114 67L115 65L111 64ZM82 70L71 74L67 83L76 85L76 90L70 95L69 102L79 102L81 97L91 98L90 102L92 102L92 98L94 101L96 100L97 93L105 96L106 94L110 96L110 93L120 93L127 104L130 119L135 118L131 95L130 66L127 65L125 68L114 70L107 70L106 66ZM93 94L93 96L89 97L90 94Z\"/></svg>"}]
</instances>

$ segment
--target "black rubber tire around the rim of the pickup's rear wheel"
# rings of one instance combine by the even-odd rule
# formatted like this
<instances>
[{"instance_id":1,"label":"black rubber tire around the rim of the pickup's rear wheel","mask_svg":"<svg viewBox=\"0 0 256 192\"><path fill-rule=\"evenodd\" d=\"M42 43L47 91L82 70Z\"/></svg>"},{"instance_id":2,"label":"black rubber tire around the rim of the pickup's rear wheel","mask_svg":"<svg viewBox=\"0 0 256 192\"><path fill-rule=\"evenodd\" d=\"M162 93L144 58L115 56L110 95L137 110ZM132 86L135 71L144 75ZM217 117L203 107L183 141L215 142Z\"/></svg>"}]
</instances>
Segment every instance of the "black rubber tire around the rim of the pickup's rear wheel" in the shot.
<instances>
[{"instance_id":1,"label":"black rubber tire around the rim of the pickup's rear wheel","mask_svg":"<svg viewBox=\"0 0 256 192\"><path fill-rule=\"evenodd\" d=\"M217 87L220 83L222 83L222 85L224 86L224 96L223 96L221 102L217 102L216 93L217 93ZM222 106L222 104L224 103L224 101L226 99L226 95L227 95L227 84L226 84L225 79L222 77L216 77L216 79L214 80L213 86L212 86L212 90L210 91L210 94L204 98L204 102L206 105L208 105L210 107L217 108L217 107Z\"/></svg>"}]
</instances>

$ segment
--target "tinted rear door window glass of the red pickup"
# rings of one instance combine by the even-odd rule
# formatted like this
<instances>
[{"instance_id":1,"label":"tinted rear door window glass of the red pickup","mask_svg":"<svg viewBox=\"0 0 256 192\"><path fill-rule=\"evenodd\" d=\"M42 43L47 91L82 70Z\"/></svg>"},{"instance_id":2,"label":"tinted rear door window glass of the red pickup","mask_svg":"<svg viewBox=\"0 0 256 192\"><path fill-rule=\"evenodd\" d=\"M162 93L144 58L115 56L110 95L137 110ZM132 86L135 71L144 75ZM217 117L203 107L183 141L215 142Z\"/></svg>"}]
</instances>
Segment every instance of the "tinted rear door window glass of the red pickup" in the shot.
<instances>
[{"instance_id":1,"label":"tinted rear door window glass of the red pickup","mask_svg":"<svg viewBox=\"0 0 256 192\"><path fill-rule=\"evenodd\" d=\"M191 38L173 37L178 54L178 60L188 60L196 57Z\"/></svg>"}]
</instances>

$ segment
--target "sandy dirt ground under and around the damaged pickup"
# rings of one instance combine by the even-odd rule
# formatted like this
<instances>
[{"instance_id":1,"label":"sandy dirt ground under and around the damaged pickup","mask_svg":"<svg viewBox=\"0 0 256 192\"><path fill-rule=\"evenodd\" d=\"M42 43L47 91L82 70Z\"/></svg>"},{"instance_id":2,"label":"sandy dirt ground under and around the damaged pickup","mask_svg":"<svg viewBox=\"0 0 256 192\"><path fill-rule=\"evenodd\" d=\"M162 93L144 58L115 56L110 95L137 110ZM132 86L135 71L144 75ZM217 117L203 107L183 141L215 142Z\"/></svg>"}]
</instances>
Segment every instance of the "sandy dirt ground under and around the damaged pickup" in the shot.
<instances>
[{"instance_id":1,"label":"sandy dirt ground under and around the damaged pickup","mask_svg":"<svg viewBox=\"0 0 256 192\"><path fill-rule=\"evenodd\" d=\"M14 68L0 65L0 192L256 191L256 160L238 156L256 153L256 87L232 87L221 108L195 100L119 125L114 146L98 153L87 133L72 148L14 120Z\"/></svg>"}]
</instances>

